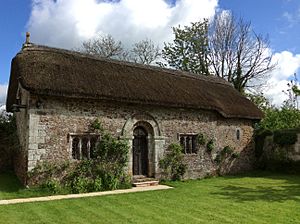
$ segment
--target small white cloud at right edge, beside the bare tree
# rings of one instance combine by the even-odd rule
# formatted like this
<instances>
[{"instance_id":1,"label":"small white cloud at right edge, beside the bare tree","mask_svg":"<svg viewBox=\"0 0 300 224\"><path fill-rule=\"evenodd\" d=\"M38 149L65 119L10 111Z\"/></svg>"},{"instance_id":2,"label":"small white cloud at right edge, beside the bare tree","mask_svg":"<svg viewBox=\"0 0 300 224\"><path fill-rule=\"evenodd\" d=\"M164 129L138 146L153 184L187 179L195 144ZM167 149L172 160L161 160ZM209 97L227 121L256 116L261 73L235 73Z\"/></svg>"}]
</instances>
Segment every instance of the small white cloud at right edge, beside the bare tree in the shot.
<instances>
[{"instance_id":1,"label":"small white cloud at right edge, beside the bare tree","mask_svg":"<svg viewBox=\"0 0 300 224\"><path fill-rule=\"evenodd\" d=\"M273 62L277 63L277 67L272 71L264 93L273 104L280 106L288 98L283 92L287 90L288 80L300 69L300 54L294 55L288 51L275 53Z\"/></svg>"}]
</instances>

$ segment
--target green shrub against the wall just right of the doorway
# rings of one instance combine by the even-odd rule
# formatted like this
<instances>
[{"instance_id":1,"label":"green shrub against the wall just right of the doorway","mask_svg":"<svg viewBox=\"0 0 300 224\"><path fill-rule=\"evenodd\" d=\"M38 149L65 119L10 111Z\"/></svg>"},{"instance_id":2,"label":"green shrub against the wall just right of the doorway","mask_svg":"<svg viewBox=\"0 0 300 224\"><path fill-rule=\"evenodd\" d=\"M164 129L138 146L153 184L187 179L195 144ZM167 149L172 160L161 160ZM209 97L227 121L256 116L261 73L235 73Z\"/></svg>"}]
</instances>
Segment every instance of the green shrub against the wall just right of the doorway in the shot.
<instances>
[{"instance_id":1,"label":"green shrub against the wall just right of the doorway","mask_svg":"<svg viewBox=\"0 0 300 224\"><path fill-rule=\"evenodd\" d=\"M181 180L186 172L186 165L183 162L184 154L179 144L172 143L163 159L159 161L159 167L172 180Z\"/></svg>"}]
</instances>

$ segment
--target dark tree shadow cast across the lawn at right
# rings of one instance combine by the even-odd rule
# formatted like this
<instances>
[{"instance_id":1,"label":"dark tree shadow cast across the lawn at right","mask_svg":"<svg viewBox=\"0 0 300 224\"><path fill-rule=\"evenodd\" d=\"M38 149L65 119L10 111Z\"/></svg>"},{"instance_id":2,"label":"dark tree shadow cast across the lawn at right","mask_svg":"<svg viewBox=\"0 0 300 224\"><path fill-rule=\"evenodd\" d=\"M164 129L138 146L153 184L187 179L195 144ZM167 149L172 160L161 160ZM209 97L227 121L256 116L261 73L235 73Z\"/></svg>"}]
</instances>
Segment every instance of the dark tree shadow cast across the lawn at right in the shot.
<instances>
[{"instance_id":1,"label":"dark tree shadow cast across the lawn at right","mask_svg":"<svg viewBox=\"0 0 300 224\"><path fill-rule=\"evenodd\" d=\"M221 187L218 192L214 192L212 194L219 195L222 198L235 200L237 202L284 202L287 200L300 202L299 175L251 174L249 177L252 178L249 185L237 182L236 185L229 184ZM229 179L235 178L242 177L229 177Z\"/></svg>"}]
</instances>

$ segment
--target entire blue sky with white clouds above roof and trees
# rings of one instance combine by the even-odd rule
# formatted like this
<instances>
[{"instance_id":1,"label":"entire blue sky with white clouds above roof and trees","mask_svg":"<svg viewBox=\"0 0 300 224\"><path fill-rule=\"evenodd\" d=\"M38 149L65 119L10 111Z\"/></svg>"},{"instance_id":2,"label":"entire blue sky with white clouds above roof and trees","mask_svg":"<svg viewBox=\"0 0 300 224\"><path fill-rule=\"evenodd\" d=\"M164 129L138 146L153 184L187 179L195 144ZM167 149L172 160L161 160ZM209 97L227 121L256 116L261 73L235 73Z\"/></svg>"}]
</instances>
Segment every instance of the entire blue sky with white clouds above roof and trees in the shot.
<instances>
[{"instance_id":1,"label":"entire blue sky with white clouds above roof and trees","mask_svg":"<svg viewBox=\"0 0 300 224\"><path fill-rule=\"evenodd\" d=\"M0 104L5 102L12 58L25 33L31 41L73 49L97 34L111 34L126 46L149 38L160 46L173 39L172 27L210 18L221 10L251 21L268 35L277 68L264 94L280 105L294 73L300 75L299 0L9 0L0 8ZM300 76L299 76L300 77ZM300 79L300 78L299 78Z\"/></svg>"}]
</instances>

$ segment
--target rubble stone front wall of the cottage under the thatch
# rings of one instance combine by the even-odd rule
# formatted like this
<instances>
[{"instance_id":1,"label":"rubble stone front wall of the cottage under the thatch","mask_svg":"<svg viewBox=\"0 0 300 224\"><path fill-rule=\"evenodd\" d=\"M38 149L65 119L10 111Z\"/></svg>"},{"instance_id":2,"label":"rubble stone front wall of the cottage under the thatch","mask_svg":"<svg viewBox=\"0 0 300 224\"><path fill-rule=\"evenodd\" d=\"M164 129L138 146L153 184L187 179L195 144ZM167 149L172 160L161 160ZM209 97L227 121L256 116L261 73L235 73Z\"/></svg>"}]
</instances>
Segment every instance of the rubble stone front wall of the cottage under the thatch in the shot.
<instances>
[{"instance_id":1,"label":"rubble stone front wall of the cottage under the thatch","mask_svg":"<svg viewBox=\"0 0 300 224\"><path fill-rule=\"evenodd\" d=\"M36 100L41 106L36 108ZM133 129L137 125L149 133L149 172L159 177L159 160L171 143L179 143L179 134L203 133L207 139L215 139L212 156L201 147L197 154L185 155L188 171L185 178L213 175L216 165L212 161L225 146L240 152L240 157L228 165L224 173L249 170L254 163L253 121L226 119L214 111L163 108L117 102L80 100L30 96L27 115L19 114L18 128L22 148L27 152L27 171L38 162L69 160L71 155L70 133L90 132L90 124L96 118L104 129L115 137L128 140L132 146ZM21 118L22 117L22 118ZM27 119L27 120L26 120ZM26 130L24 126L28 126ZM241 133L237 140L237 130ZM132 170L132 152L129 153L128 171Z\"/></svg>"}]
</instances>

